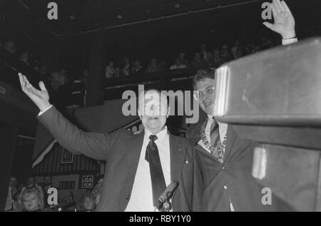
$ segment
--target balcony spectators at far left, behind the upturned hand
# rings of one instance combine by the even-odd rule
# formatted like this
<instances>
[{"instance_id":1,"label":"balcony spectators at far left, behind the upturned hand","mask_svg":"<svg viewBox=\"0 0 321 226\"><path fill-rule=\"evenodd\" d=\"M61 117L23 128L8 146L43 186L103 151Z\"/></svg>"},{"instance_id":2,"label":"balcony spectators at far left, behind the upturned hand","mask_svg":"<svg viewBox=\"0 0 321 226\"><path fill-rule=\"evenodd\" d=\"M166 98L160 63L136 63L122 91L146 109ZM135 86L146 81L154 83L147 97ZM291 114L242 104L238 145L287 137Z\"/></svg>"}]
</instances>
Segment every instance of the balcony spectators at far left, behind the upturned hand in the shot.
<instances>
[{"instance_id":1,"label":"balcony spectators at far left, behind the upturned hand","mask_svg":"<svg viewBox=\"0 0 321 226\"><path fill-rule=\"evenodd\" d=\"M0 80L6 81L10 86L18 88L16 73L21 71L34 86L39 81L44 81L51 93L51 101L60 110L86 105L87 70L78 76L69 75L64 68L49 71L45 64L41 64L28 51L18 51L16 43L12 40L6 41L3 45L0 39L0 61Z\"/></svg>"}]
</instances>

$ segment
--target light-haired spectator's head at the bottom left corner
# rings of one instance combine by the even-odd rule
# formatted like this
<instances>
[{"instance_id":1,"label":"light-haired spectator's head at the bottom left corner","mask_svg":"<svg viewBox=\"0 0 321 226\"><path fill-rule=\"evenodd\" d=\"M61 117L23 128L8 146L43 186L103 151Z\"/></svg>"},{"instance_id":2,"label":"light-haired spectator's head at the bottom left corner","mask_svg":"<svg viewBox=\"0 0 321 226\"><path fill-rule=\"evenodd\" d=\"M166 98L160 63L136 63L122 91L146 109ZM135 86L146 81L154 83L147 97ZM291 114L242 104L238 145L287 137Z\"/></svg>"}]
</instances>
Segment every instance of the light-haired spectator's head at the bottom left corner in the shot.
<instances>
[{"instance_id":1,"label":"light-haired spectator's head at the bottom left corner","mask_svg":"<svg viewBox=\"0 0 321 226\"><path fill-rule=\"evenodd\" d=\"M26 188L22 190L20 204L22 212L41 212L44 210L44 196L37 188Z\"/></svg>"}]
</instances>

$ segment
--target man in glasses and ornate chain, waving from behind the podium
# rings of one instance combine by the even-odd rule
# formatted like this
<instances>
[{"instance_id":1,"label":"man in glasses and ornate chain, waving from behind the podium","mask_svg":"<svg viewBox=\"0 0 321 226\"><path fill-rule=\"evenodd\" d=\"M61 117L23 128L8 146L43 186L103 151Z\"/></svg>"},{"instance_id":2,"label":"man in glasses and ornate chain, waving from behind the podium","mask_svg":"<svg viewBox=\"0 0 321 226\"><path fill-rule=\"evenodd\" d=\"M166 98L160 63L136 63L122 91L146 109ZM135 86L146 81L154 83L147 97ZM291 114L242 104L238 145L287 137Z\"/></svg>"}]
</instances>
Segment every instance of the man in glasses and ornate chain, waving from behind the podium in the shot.
<instances>
[{"instance_id":1,"label":"man in glasses and ornate chain, waving from behind the podium","mask_svg":"<svg viewBox=\"0 0 321 226\"><path fill-rule=\"evenodd\" d=\"M282 36L282 43L293 43L295 21L284 1L271 4L275 24L265 26ZM265 192L251 175L253 149L257 146L235 133L233 125L219 123L213 117L215 100L215 72L200 70L194 78L194 90L200 108L208 115L186 132L195 148L203 178L203 211L277 211L289 210L274 195L272 202L264 202Z\"/></svg>"}]
</instances>

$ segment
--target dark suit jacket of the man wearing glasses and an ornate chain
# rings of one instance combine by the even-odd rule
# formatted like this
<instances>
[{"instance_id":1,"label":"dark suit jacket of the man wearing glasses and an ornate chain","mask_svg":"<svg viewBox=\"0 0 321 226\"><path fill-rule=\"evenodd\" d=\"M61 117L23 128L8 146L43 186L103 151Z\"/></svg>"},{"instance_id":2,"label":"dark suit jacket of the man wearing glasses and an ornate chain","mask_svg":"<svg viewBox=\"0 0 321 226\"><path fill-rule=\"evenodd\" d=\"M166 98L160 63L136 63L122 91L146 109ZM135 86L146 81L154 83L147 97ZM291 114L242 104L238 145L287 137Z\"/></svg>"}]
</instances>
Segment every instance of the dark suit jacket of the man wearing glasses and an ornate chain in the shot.
<instances>
[{"instance_id":1,"label":"dark suit jacket of the man wearing glasses and an ornate chain","mask_svg":"<svg viewBox=\"0 0 321 226\"><path fill-rule=\"evenodd\" d=\"M290 210L272 194L272 205L263 205L263 186L253 178L253 150L258 143L238 137L233 125L228 125L227 145L223 164L198 145L203 122L188 128L186 136L195 148L195 158L203 179L203 211L280 211Z\"/></svg>"}]
</instances>

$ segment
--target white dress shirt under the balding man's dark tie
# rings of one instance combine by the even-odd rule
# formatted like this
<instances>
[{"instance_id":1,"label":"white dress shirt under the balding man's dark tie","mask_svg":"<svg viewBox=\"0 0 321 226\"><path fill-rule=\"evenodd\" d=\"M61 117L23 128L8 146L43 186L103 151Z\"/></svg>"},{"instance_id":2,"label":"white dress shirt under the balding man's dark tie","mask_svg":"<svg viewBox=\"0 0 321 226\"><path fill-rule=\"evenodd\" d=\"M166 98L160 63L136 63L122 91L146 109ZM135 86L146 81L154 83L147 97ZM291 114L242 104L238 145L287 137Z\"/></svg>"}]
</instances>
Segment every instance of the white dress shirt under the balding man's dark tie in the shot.
<instances>
[{"instance_id":1,"label":"white dress shirt under the balding man's dark tie","mask_svg":"<svg viewBox=\"0 0 321 226\"><path fill-rule=\"evenodd\" d=\"M139 158L138 168L133 183L133 190L131 191L131 199L125 210L126 212L154 211L151 173L149 170L149 163L145 160L149 136L152 135L152 133L146 129L144 131L145 135L141 148L141 156ZM167 187L170 184L170 145L167 127L155 135L157 135L155 143L158 148Z\"/></svg>"}]
</instances>

